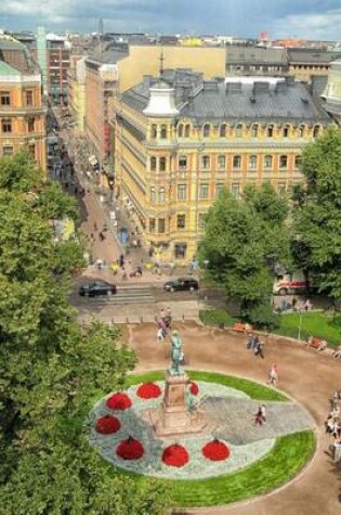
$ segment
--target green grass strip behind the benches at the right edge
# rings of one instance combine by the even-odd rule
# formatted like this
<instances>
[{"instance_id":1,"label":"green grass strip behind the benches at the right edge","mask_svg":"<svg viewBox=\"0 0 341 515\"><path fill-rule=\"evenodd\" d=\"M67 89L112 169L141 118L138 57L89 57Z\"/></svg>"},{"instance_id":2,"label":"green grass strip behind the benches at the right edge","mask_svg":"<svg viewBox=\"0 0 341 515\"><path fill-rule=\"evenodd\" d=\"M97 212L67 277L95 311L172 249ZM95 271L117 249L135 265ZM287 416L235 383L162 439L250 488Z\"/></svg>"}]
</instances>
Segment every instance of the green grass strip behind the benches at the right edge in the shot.
<instances>
[{"instance_id":1,"label":"green grass strip behind the benches at the right edge","mask_svg":"<svg viewBox=\"0 0 341 515\"><path fill-rule=\"evenodd\" d=\"M298 338L300 313L280 316L280 326L276 334ZM301 339L309 336L326 339L329 347L337 347L341 343L341 316L332 317L322 312L303 312L301 319Z\"/></svg>"}]
</instances>

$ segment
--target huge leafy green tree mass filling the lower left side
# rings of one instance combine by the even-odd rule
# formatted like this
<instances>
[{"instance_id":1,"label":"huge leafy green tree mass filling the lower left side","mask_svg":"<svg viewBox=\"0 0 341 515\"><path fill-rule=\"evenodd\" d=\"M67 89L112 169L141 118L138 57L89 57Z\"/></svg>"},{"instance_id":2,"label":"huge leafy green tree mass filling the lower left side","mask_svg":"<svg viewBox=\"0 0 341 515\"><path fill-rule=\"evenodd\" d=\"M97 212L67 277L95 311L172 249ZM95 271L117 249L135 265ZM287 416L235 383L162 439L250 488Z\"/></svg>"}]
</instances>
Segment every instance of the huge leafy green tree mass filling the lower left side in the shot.
<instances>
[{"instance_id":1,"label":"huge leafy green tree mass filling the lower left side","mask_svg":"<svg viewBox=\"0 0 341 515\"><path fill-rule=\"evenodd\" d=\"M136 358L117 327L81 330L69 306L82 248L51 221L73 203L23 155L0 159L0 514L105 514L102 495L119 488L110 507L129 499L131 513L158 515L165 491L110 475L87 441L91 404L122 388Z\"/></svg>"}]
</instances>

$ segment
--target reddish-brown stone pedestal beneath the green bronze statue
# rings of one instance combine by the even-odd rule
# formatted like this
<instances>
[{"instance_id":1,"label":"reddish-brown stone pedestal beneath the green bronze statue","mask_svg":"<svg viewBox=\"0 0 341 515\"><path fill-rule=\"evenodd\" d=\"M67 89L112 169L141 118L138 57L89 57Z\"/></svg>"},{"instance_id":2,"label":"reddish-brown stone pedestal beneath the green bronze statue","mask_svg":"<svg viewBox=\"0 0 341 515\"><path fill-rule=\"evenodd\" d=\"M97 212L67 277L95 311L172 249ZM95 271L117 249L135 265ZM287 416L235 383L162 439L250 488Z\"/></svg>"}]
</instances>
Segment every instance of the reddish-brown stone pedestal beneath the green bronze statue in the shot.
<instances>
[{"instance_id":1,"label":"reddish-brown stone pedestal beneath the green bronze statue","mask_svg":"<svg viewBox=\"0 0 341 515\"><path fill-rule=\"evenodd\" d=\"M154 432L158 437L172 437L201 433L207 425L202 413L189 413L186 403L188 377L166 373L165 397L160 408L149 412Z\"/></svg>"}]
</instances>

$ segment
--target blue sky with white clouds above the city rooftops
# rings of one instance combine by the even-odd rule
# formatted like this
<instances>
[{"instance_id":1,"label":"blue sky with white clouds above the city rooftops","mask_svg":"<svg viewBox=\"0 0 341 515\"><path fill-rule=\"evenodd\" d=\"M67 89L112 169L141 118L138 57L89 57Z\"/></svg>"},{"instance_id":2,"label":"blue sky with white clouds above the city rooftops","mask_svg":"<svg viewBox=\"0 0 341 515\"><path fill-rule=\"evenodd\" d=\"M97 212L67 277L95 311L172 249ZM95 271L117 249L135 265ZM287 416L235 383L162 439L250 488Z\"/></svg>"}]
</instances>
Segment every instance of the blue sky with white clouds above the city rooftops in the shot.
<instances>
[{"instance_id":1,"label":"blue sky with white clouds above the city rooftops","mask_svg":"<svg viewBox=\"0 0 341 515\"><path fill-rule=\"evenodd\" d=\"M1 0L0 28L341 40L340 0Z\"/></svg>"}]
</instances>

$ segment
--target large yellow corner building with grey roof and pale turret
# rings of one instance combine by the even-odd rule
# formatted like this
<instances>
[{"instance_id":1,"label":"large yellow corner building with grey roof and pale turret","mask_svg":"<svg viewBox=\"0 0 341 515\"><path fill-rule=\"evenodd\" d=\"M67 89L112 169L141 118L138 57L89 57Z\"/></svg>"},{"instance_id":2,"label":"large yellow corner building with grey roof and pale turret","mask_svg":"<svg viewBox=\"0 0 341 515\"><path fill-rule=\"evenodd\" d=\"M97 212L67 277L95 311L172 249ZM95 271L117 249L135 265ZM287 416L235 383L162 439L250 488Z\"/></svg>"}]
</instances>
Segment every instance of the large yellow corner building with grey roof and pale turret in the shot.
<instances>
[{"instance_id":1,"label":"large yellow corner building with grey roof and pale turret","mask_svg":"<svg viewBox=\"0 0 341 515\"><path fill-rule=\"evenodd\" d=\"M161 260L192 259L223 189L301 182L302 147L330 124L304 85L226 80L165 70L115 100L117 193Z\"/></svg>"}]
</instances>

